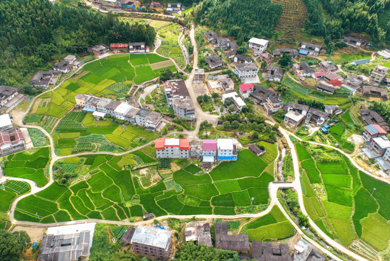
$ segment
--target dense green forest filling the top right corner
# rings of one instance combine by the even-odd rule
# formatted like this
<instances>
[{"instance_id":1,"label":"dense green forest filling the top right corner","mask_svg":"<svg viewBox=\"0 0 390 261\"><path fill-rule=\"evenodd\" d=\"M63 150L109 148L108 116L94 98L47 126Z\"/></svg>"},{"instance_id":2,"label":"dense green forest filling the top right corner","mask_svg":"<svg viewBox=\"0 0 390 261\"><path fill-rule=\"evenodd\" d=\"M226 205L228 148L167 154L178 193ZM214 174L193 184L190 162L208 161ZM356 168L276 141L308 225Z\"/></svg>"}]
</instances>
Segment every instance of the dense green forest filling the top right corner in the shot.
<instances>
[{"instance_id":1,"label":"dense green forest filling the top right corner","mask_svg":"<svg viewBox=\"0 0 390 261\"><path fill-rule=\"evenodd\" d=\"M350 32L367 33L374 42L390 41L390 21L378 27L378 15L388 12L390 0L303 0L309 17L305 29L316 36L339 39ZM324 19L326 14L326 20Z\"/></svg>"}]
</instances>

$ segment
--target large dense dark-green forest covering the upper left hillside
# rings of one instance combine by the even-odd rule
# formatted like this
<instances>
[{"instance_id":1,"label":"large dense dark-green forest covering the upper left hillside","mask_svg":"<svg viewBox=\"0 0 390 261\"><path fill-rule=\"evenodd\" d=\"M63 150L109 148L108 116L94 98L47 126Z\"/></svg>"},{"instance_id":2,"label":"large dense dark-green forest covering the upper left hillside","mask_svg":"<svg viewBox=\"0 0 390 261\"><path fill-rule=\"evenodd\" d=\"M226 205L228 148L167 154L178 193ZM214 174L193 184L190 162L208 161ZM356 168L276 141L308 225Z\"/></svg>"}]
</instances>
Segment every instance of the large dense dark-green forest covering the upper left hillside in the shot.
<instances>
[{"instance_id":1,"label":"large dense dark-green forest covering the upper left hillside","mask_svg":"<svg viewBox=\"0 0 390 261\"><path fill-rule=\"evenodd\" d=\"M36 70L52 69L60 54L112 42L154 42L149 25L114 14L53 5L47 0L0 1L0 85L26 85ZM29 77L30 76L30 77Z\"/></svg>"}]
</instances>

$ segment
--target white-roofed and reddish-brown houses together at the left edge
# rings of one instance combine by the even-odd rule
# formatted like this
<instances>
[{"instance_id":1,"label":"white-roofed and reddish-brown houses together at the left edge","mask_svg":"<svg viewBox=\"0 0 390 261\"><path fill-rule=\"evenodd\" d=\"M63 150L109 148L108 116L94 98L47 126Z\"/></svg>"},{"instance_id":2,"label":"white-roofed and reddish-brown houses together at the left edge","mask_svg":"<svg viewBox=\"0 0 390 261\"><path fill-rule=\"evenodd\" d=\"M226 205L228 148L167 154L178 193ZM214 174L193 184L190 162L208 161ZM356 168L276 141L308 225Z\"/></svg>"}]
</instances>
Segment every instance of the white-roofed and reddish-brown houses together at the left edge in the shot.
<instances>
[{"instance_id":1,"label":"white-roofed and reddish-brown houses together at the left edge","mask_svg":"<svg viewBox=\"0 0 390 261\"><path fill-rule=\"evenodd\" d=\"M13 127L9 114L0 115L0 156L9 155L25 148L20 128Z\"/></svg>"}]
</instances>

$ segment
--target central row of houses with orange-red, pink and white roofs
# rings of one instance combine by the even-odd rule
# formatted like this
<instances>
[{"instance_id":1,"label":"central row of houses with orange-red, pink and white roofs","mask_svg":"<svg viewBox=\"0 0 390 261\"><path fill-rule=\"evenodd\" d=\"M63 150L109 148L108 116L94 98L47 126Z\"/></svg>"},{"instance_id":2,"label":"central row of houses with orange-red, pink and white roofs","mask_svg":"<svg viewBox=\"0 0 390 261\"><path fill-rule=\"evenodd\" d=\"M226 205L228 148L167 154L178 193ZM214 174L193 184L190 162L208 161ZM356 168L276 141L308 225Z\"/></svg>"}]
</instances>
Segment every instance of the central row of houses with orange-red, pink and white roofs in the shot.
<instances>
[{"instance_id":1,"label":"central row of houses with orange-red, pink and white roofs","mask_svg":"<svg viewBox=\"0 0 390 261\"><path fill-rule=\"evenodd\" d=\"M203 159L203 163L237 160L237 147L233 139L189 141L159 138L154 143L154 149L157 158Z\"/></svg>"}]
</instances>

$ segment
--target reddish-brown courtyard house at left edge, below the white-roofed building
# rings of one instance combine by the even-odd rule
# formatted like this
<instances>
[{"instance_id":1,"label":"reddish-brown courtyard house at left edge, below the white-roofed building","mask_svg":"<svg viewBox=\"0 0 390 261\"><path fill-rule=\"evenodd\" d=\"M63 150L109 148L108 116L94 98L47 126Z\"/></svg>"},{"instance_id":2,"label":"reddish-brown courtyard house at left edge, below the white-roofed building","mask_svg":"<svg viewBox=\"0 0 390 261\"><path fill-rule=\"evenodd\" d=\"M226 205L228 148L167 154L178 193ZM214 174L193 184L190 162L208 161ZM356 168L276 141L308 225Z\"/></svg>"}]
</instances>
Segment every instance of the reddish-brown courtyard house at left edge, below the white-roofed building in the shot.
<instances>
[{"instance_id":1,"label":"reddish-brown courtyard house at left edge, below the white-roofed building","mask_svg":"<svg viewBox=\"0 0 390 261\"><path fill-rule=\"evenodd\" d=\"M0 156L12 154L23 149L25 149L24 138L18 127L0 131Z\"/></svg>"}]
</instances>

